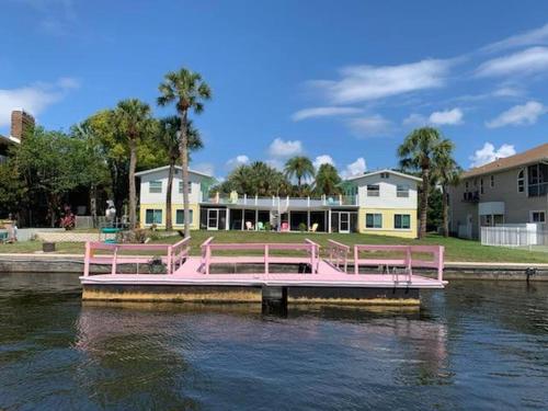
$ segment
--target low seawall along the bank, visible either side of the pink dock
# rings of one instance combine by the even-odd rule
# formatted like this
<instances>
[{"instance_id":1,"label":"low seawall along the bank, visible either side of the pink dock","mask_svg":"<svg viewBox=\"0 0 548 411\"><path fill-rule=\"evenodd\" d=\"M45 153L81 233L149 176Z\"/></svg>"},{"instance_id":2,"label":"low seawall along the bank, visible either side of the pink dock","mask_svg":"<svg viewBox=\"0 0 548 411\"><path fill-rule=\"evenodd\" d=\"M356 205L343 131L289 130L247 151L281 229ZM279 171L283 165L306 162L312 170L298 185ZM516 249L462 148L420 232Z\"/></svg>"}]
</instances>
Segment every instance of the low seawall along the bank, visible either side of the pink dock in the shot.
<instances>
[{"instance_id":1,"label":"low seawall along the bank, visible either side of the pink dock","mask_svg":"<svg viewBox=\"0 0 548 411\"><path fill-rule=\"evenodd\" d=\"M106 270L91 267L93 274ZM429 270L415 270L429 275ZM0 273L83 273L83 254L0 254ZM444 279L502 279L502 281L548 281L546 263L491 263L448 261L445 263Z\"/></svg>"}]
</instances>

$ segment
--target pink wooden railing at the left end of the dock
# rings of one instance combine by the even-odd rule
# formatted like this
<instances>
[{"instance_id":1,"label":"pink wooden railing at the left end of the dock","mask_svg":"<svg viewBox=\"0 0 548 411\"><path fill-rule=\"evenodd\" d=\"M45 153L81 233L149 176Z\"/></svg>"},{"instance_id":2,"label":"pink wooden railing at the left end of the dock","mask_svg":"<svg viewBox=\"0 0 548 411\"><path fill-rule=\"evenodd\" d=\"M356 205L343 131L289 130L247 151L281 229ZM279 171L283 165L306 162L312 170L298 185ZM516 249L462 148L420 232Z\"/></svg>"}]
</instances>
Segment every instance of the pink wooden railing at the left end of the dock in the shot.
<instances>
[{"instance_id":1,"label":"pink wooden railing at the left end of the dock","mask_svg":"<svg viewBox=\"0 0 548 411\"><path fill-rule=\"evenodd\" d=\"M111 274L116 274L118 264L150 262L151 255L123 254L124 251L152 252L152 256L160 256L165 264L167 274L173 274L183 264L183 260L190 255L190 237L174 244L110 244L88 241L85 243L83 275L88 276L90 274L91 264L111 264ZM95 254L95 251L109 251L110 253Z\"/></svg>"}]
</instances>

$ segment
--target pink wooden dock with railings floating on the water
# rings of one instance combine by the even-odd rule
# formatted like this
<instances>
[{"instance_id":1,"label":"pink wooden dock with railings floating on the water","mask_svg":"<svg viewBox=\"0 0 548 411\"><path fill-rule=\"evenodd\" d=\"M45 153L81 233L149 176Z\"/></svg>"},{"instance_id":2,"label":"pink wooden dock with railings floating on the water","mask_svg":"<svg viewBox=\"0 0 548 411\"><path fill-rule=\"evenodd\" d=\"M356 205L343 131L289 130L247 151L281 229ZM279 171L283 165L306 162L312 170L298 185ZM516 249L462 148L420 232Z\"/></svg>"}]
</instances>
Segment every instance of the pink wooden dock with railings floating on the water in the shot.
<instances>
[{"instance_id":1,"label":"pink wooden dock with railings floating on the water","mask_svg":"<svg viewBox=\"0 0 548 411\"><path fill-rule=\"evenodd\" d=\"M84 299L249 302L419 304L443 288L444 248L302 243L216 243L191 255L175 244L88 242ZM416 272L429 275L418 275Z\"/></svg>"}]
</instances>

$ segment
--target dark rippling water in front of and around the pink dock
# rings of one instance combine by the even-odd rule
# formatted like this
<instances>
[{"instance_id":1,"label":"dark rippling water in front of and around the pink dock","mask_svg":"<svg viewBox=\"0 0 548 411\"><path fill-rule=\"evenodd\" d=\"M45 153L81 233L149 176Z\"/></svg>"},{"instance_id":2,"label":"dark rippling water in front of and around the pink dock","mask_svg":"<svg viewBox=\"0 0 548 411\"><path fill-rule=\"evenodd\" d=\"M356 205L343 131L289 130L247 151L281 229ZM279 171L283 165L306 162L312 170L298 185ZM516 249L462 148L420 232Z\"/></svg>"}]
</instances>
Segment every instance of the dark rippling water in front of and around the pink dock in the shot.
<instances>
[{"instance_id":1,"label":"dark rippling water in front of and around the pink dock","mask_svg":"<svg viewBox=\"0 0 548 411\"><path fill-rule=\"evenodd\" d=\"M548 284L453 282L420 311L105 306L0 275L0 409L547 410Z\"/></svg>"}]
</instances>

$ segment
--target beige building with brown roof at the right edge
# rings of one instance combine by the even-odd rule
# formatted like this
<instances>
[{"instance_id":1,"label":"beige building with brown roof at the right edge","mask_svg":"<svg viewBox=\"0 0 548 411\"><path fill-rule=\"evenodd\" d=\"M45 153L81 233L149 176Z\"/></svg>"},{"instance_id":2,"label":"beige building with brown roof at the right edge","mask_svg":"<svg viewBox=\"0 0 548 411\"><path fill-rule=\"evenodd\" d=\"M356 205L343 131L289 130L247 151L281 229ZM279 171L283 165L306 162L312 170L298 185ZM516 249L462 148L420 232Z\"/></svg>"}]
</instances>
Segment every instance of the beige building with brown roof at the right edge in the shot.
<instances>
[{"instance_id":1,"label":"beige building with brown roof at the right edge","mask_svg":"<svg viewBox=\"0 0 548 411\"><path fill-rule=\"evenodd\" d=\"M463 174L449 191L450 230L478 239L480 227L545 224L548 214L548 144Z\"/></svg>"}]
</instances>

